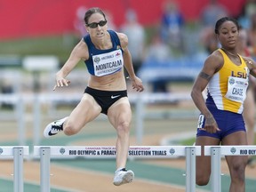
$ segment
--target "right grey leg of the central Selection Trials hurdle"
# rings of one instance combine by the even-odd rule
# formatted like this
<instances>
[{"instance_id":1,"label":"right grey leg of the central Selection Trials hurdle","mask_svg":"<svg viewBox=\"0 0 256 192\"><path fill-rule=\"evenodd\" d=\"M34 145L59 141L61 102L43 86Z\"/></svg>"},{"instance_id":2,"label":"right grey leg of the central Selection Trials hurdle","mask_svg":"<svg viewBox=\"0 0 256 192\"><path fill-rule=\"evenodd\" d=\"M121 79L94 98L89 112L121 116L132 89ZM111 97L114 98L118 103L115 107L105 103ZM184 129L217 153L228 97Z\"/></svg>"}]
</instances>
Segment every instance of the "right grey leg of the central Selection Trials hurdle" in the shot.
<instances>
[{"instance_id":1,"label":"right grey leg of the central Selection Trials hurdle","mask_svg":"<svg viewBox=\"0 0 256 192\"><path fill-rule=\"evenodd\" d=\"M196 192L196 148L186 150L186 192Z\"/></svg>"}]
</instances>

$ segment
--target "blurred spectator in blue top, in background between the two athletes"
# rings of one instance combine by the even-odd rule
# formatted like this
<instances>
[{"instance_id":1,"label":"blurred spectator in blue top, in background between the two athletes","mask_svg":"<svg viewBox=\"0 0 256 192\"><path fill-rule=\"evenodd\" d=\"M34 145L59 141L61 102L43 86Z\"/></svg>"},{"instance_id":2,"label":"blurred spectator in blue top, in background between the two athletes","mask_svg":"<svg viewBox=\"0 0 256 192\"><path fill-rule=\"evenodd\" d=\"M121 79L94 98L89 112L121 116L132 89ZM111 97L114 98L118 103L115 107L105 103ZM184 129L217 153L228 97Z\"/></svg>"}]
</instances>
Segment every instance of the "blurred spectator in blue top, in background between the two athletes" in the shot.
<instances>
[{"instance_id":1,"label":"blurred spectator in blue top, in background between the two athletes","mask_svg":"<svg viewBox=\"0 0 256 192\"><path fill-rule=\"evenodd\" d=\"M172 48L182 50L182 27L184 25L184 19L179 6L172 0L166 1L163 10L161 18L161 36L163 41L170 44Z\"/></svg>"}]
</instances>

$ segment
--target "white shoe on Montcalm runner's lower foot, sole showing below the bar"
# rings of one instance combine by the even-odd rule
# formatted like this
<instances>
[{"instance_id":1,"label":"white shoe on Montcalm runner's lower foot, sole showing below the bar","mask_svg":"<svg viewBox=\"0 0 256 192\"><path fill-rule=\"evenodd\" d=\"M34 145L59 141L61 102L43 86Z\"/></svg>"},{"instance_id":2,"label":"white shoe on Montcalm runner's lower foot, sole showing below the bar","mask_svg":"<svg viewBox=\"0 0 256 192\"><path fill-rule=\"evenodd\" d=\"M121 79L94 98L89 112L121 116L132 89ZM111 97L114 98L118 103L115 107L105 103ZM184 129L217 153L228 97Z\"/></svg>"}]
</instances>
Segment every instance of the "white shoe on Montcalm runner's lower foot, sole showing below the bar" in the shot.
<instances>
[{"instance_id":1,"label":"white shoe on Montcalm runner's lower foot, sole showing below the bar","mask_svg":"<svg viewBox=\"0 0 256 192\"><path fill-rule=\"evenodd\" d=\"M125 183L131 183L133 179L134 179L134 172L132 172L132 170L126 170L124 168L121 170L116 170L113 184L116 186L120 186Z\"/></svg>"}]
</instances>

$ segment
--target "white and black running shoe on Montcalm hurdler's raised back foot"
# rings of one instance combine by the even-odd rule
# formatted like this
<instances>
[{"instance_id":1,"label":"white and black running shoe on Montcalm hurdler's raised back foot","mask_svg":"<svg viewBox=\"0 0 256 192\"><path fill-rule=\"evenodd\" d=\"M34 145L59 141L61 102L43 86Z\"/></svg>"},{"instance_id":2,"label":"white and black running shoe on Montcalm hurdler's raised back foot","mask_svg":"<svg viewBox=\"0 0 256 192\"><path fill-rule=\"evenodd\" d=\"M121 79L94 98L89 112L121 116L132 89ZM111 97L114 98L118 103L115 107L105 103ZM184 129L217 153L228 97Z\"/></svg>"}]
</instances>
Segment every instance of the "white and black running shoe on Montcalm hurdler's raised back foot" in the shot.
<instances>
[{"instance_id":1,"label":"white and black running shoe on Montcalm hurdler's raised back foot","mask_svg":"<svg viewBox=\"0 0 256 192\"><path fill-rule=\"evenodd\" d=\"M63 131L63 124L68 116L48 124L44 129L44 137L48 138Z\"/></svg>"}]
</instances>

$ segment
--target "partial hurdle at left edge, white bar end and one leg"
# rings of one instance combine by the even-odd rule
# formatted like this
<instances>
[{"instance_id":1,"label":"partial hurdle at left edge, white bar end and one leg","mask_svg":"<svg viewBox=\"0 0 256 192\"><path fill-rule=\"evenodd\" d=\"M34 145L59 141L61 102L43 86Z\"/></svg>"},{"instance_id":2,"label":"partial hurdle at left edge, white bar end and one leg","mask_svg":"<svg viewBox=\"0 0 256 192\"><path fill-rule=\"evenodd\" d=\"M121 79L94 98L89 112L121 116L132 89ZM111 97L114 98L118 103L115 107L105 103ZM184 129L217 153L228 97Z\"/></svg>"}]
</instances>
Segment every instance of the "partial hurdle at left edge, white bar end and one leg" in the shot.
<instances>
[{"instance_id":1,"label":"partial hurdle at left edge, white bar end and one leg","mask_svg":"<svg viewBox=\"0 0 256 192\"><path fill-rule=\"evenodd\" d=\"M23 192L23 160L29 156L28 146L0 146L0 159L13 158L13 191Z\"/></svg>"}]
</instances>

